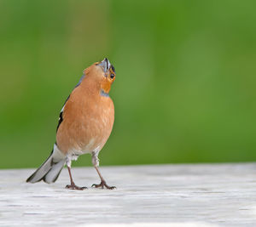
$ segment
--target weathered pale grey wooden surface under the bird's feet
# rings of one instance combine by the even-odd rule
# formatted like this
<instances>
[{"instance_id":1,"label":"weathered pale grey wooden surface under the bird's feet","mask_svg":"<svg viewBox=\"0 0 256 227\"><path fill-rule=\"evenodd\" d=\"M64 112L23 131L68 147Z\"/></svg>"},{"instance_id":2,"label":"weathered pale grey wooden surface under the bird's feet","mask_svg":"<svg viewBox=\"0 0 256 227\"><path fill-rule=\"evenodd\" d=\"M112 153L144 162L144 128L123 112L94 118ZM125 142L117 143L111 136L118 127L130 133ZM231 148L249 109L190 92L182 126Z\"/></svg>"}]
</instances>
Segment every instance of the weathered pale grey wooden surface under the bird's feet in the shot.
<instances>
[{"instance_id":1,"label":"weathered pale grey wooden surface under the bird's feet","mask_svg":"<svg viewBox=\"0 0 256 227\"><path fill-rule=\"evenodd\" d=\"M117 190L66 190L67 169L55 184L27 184L32 169L1 170L0 226L256 226L254 163L101 169ZM93 167L73 177L99 182Z\"/></svg>"}]
</instances>

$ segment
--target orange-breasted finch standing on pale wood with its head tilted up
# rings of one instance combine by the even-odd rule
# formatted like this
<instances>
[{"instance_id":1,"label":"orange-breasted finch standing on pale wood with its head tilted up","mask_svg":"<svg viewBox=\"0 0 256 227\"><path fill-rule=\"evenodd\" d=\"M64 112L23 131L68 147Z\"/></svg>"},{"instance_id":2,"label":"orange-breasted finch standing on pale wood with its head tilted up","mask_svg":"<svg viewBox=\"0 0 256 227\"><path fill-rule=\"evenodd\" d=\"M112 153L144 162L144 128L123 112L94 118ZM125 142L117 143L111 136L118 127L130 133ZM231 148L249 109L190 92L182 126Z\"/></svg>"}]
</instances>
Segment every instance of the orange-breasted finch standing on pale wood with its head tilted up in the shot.
<instances>
[{"instance_id":1,"label":"orange-breasted finch standing on pale wood with its head tilted up","mask_svg":"<svg viewBox=\"0 0 256 227\"><path fill-rule=\"evenodd\" d=\"M105 58L90 65L83 72L79 83L73 88L61 109L53 150L26 182L36 183L44 180L49 184L54 183L66 164L70 178L70 184L67 184L66 188L87 189L74 183L71 163L79 156L89 153L101 179L100 184L92 184L92 187L115 189L114 186L108 186L103 179L98 158L113 129L114 105L109 91L115 80L115 70Z\"/></svg>"}]
</instances>

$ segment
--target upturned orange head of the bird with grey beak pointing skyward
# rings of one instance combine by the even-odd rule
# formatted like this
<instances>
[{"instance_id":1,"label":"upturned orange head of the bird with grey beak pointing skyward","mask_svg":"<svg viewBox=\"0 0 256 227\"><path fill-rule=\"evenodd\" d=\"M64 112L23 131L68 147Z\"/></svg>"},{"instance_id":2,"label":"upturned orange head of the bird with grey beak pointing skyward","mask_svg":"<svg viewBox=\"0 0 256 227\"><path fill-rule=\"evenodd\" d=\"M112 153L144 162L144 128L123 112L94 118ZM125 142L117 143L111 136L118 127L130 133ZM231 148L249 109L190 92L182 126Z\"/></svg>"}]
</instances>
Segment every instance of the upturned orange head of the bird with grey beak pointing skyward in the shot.
<instances>
[{"instance_id":1,"label":"upturned orange head of the bird with grey beak pointing skyward","mask_svg":"<svg viewBox=\"0 0 256 227\"><path fill-rule=\"evenodd\" d=\"M107 58L96 62L85 70L85 75L93 77L93 80L100 84L100 88L104 94L108 94L111 85L115 79L115 71L113 65Z\"/></svg>"}]
</instances>

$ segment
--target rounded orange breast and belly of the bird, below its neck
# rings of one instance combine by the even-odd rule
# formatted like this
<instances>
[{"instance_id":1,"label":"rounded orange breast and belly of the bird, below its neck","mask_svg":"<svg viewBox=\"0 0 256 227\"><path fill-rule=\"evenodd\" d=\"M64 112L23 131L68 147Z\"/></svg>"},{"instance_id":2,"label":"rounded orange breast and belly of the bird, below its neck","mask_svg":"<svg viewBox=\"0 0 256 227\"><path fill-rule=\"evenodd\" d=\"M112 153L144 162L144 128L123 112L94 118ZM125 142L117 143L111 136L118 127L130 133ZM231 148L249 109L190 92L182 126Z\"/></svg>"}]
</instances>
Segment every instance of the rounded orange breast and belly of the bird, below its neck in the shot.
<instances>
[{"instance_id":1,"label":"rounded orange breast and belly of the bird, below its neck","mask_svg":"<svg viewBox=\"0 0 256 227\"><path fill-rule=\"evenodd\" d=\"M110 97L103 97L90 88L75 88L64 107L56 143L64 154L101 150L112 131L113 121Z\"/></svg>"}]
</instances>

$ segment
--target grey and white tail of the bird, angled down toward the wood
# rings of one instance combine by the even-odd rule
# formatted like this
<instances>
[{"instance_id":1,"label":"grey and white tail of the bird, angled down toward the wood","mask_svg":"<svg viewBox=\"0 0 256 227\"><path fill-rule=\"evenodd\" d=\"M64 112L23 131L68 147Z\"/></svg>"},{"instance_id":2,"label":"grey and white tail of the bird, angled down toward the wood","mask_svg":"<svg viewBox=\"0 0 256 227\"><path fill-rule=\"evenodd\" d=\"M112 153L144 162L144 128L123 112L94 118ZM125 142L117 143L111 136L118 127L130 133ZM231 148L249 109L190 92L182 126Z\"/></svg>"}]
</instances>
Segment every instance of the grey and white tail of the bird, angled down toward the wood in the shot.
<instances>
[{"instance_id":1,"label":"grey and white tail of the bird, angled down toward the wood","mask_svg":"<svg viewBox=\"0 0 256 227\"><path fill-rule=\"evenodd\" d=\"M26 179L26 182L36 183L43 179L46 183L53 183L59 177L64 164L65 156L55 145L46 161Z\"/></svg>"}]
</instances>

